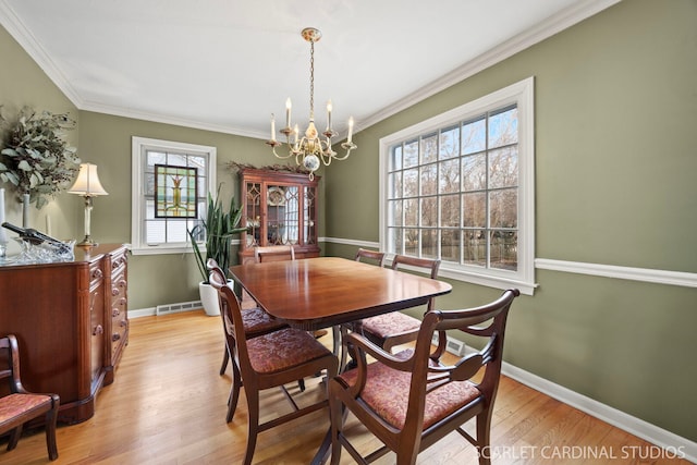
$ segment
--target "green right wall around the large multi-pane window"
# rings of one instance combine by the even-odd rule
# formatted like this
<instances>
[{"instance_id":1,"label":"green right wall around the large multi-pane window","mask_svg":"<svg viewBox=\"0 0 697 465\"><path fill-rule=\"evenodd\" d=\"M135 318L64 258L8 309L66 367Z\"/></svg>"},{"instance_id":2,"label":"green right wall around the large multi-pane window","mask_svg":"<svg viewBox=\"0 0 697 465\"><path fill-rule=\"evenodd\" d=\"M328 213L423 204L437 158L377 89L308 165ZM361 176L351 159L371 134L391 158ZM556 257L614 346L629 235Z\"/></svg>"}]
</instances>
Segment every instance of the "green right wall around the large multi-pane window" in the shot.
<instances>
[{"instance_id":1,"label":"green right wall around the large multi-pane window","mask_svg":"<svg viewBox=\"0 0 697 465\"><path fill-rule=\"evenodd\" d=\"M381 137L528 76L536 257L697 273L694 0L621 2L360 131L359 149L325 180L327 235L379 241ZM514 303L509 363L697 440L696 289L542 269L536 282ZM441 308L501 292L451 283Z\"/></svg>"}]
</instances>

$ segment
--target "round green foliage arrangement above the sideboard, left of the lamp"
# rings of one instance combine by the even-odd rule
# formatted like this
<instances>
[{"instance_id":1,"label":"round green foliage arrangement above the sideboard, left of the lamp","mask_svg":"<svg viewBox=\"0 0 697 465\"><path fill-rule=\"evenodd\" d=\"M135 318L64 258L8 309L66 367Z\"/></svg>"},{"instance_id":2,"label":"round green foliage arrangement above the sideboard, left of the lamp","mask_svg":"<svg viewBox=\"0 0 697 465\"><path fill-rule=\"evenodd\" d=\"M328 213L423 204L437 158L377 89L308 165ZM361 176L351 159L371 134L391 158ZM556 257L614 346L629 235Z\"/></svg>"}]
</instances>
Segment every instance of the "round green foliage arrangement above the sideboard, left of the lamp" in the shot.
<instances>
[{"instance_id":1,"label":"round green foliage arrangement above the sideboard, left of the lamp","mask_svg":"<svg viewBox=\"0 0 697 465\"><path fill-rule=\"evenodd\" d=\"M38 113L25 107L15 124L1 113L0 122L10 126L0 152L0 180L16 186L20 196L29 194L36 208L70 187L80 171L80 158L63 139L64 131L75 127L66 113Z\"/></svg>"}]
</instances>

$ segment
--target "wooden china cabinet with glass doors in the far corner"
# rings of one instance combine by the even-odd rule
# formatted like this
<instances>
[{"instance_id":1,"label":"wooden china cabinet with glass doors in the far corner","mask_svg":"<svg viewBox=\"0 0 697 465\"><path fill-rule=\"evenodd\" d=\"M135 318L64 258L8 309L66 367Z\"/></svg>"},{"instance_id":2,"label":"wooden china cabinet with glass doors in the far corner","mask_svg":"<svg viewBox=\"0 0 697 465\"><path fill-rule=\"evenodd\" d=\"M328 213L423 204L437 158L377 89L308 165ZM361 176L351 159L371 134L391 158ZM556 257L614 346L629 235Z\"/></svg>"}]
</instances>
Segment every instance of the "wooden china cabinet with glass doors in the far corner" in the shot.
<instances>
[{"instance_id":1,"label":"wooden china cabinet with glass doors in the far corner","mask_svg":"<svg viewBox=\"0 0 697 465\"><path fill-rule=\"evenodd\" d=\"M319 176L306 173L240 169L243 225L240 262L254 260L254 247L292 245L296 258L319 256L317 197Z\"/></svg>"}]
</instances>

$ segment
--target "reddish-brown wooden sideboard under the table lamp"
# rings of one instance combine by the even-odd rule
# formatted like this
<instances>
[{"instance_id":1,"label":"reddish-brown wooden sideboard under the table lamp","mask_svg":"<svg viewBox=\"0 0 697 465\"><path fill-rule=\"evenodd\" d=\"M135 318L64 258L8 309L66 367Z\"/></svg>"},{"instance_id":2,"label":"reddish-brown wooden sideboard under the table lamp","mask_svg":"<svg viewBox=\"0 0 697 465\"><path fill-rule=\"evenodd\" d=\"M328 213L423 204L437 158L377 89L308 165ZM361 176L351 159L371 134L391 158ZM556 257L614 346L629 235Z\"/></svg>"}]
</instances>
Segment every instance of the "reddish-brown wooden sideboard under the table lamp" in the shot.
<instances>
[{"instance_id":1,"label":"reddish-brown wooden sideboard under the table lamp","mask_svg":"<svg viewBox=\"0 0 697 465\"><path fill-rule=\"evenodd\" d=\"M15 334L22 381L61 397L59 421L95 413L129 341L127 249L76 247L73 261L0 266L0 333Z\"/></svg>"}]
</instances>

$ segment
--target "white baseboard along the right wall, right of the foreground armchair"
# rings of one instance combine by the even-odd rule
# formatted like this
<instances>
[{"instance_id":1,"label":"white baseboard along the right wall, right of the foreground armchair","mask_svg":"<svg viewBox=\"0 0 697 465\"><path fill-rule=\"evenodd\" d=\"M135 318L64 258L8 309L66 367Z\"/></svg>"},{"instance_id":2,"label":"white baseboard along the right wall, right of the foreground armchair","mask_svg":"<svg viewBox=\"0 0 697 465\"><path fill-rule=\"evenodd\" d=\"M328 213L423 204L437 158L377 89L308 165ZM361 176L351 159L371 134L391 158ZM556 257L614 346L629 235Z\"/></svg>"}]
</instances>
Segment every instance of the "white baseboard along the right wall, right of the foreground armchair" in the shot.
<instances>
[{"instance_id":1,"label":"white baseboard along the right wall, right of the foreground armchair","mask_svg":"<svg viewBox=\"0 0 697 465\"><path fill-rule=\"evenodd\" d=\"M640 418L627 415L622 411L601 404L585 395L578 394L562 386L540 378L537 375L525 371L511 364L503 363L501 369L503 375L540 391L550 397L557 399L574 408L587 413L602 421L615 426L627 431L638 438L641 438L652 444L667 449L669 451L677 451L680 455L684 455L685 460L697 463L697 442L682 438L658 426L644 421Z\"/></svg>"}]
</instances>

